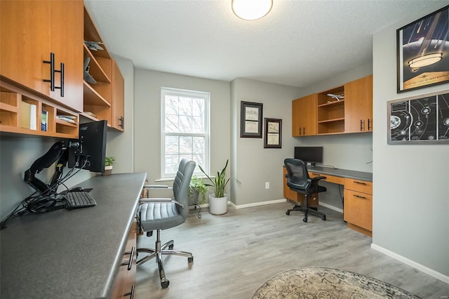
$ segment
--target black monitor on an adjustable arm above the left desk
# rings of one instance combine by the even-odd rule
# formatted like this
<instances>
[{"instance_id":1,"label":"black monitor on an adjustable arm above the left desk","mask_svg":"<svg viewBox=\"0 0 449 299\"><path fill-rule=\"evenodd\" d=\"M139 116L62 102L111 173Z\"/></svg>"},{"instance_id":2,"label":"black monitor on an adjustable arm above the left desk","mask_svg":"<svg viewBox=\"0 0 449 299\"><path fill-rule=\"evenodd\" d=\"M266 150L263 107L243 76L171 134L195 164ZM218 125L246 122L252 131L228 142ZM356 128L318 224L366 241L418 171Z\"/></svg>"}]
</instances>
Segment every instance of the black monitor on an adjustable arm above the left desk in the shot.
<instances>
[{"instance_id":1,"label":"black monitor on an adjustable arm above the left desk","mask_svg":"<svg viewBox=\"0 0 449 299\"><path fill-rule=\"evenodd\" d=\"M79 147L69 150L69 168L105 171L107 121L79 125Z\"/></svg>"}]
</instances>

